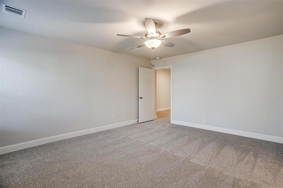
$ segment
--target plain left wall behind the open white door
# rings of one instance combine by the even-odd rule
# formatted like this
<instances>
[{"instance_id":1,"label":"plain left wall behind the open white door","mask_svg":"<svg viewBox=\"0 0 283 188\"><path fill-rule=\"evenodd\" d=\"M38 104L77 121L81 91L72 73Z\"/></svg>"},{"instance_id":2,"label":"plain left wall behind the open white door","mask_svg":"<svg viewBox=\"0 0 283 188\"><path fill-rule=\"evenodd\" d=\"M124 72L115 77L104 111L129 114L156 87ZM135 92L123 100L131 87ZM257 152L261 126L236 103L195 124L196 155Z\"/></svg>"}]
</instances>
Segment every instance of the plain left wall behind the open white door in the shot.
<instances>
[{"instance_id":1,"label":"plain left wall behind the open white door","mask_svg":"<svg viewBox=\"0 0 283 188\"><path fill-rule=\"evenodd\" d=\"M1 147L138 119L139 67L150 60L0 33Z\"/></svg>"}]
</instances>

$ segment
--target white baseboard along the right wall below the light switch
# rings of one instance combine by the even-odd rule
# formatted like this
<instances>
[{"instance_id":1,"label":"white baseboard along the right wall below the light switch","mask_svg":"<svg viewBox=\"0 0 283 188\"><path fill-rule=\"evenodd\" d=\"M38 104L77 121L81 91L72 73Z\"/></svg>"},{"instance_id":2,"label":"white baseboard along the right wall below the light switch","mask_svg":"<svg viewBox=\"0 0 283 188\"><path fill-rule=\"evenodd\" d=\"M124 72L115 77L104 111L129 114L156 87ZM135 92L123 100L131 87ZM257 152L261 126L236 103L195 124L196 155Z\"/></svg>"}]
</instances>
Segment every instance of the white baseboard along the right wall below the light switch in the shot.
<instances>
[{"instance_id":1,"label":"white baseboard along the right wall below the light switch","mask_svg":"<svg viewBox=\"0 0 283 188\"><path fill-rule=\"evenodd\" d=\"M238 136L244 136L244 137L249 137L249 138L257 138L257 139L261 139L261 140L267 140L267 141L278 142L278 143L283 144L283 137L279 137L279 136L271 136L271 135L267 135L267 134L252 133L252 132L247 132L247 131L239 131L239 130L234 130L234 129L230 129L230 128L221 128L221 127L215 127L215 126L210 126L210 125L202 125L202 124L197 124L197 123L182 122L182 121L177 121L177 120L172 120L172 123L177 124L177 125L184 125L184 126L188 126L188 127L195 127L195 128L201 128L201 129L221 132L221 133L235 134L235 135L238 135Z\"/></svg>"}]
</instances>

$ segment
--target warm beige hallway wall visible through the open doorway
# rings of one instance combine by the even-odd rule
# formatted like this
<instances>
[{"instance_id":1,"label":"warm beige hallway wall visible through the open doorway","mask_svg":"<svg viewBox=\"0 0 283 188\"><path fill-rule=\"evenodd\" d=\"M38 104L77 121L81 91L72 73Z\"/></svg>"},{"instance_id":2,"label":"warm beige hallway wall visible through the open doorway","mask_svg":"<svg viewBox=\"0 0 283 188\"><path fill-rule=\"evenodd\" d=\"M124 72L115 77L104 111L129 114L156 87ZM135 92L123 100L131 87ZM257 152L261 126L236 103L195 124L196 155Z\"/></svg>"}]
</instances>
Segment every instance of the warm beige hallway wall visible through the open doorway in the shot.
<instances>
[{"instance_id":1,"label":"warm beige hallway wall visible through the open doorway","mask_svg":"<svg viewBox=\"0 0 283 188\"><path fill-rule=\"evenodd\" d=\"M156 70L156 108L170 108L171 105L171 71L168 69Z\"/></svg>"}]
</instances>

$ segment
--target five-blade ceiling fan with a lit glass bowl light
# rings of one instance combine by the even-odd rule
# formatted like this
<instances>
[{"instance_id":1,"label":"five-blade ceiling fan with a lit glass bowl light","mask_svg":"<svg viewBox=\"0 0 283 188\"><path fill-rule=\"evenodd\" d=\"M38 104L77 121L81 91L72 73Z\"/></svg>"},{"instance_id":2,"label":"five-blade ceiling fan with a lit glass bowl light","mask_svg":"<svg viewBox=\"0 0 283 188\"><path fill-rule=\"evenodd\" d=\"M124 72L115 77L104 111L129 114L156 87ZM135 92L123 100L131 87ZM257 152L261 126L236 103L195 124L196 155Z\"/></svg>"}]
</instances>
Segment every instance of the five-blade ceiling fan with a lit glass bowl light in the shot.
<instances>
[{"instance_id":1,"label":"five-blade ceiling fan with a lit glass bowl light","mask_svg":"<svg viewBox=\"0 0 283 188\"><path fill-rule=\"evenodd\" d=\"M144 19L144 24L145 24L145 29L147 30L147 33L144 34L144 37L140 36L134 36L134 35L125 35L125 34L117 34L118 36L123 36L123 37L132 37L132 38L140 38L140 39L147 39L142 44L139 44L137 48L143 47L146 45L147 47L151 48L152 50L160 46L160 44L168 47L173 47L175 44L167 41L167 40L161 40L161 39L167 39L170 37L177 37L183 34L187 34L191 32L190 29L180 29L176 31L170 31L165 34L161 34L160 31L156 30L156 23L153 22L151 18L145 18Z\"/></svg>"}]
</instances>

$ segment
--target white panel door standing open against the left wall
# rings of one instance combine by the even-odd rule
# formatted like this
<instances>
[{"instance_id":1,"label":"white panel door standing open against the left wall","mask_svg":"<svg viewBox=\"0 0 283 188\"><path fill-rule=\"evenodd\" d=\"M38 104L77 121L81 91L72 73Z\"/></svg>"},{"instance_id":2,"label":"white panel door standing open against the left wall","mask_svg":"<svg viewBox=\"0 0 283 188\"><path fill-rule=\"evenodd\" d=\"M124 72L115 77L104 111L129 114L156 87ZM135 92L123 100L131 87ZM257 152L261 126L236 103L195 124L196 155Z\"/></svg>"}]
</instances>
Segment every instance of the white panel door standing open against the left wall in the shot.
<instances>
[{"instance_id":1,"label":"white panel door standing open against the left wall","mask_svg":"<svg viewBox=\"0 0 283 188\"><path fill-rule=\"evenodd\" d=\"M139 67L139 123L154 120L154 70Z\"/></svg>"}]
</instances>

